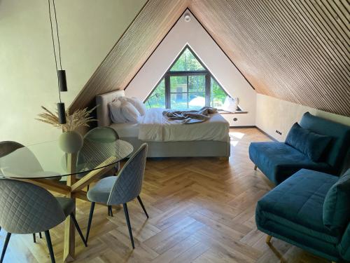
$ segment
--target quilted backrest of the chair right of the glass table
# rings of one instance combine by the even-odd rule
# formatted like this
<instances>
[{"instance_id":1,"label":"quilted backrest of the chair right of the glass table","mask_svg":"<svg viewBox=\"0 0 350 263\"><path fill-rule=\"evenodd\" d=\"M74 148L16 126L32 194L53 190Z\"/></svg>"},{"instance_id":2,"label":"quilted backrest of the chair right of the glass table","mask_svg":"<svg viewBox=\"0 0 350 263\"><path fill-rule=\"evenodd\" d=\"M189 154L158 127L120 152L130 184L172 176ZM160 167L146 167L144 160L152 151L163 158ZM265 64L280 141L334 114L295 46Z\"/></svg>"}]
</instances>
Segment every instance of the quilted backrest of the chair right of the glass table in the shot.
<instances>
[{"instance_id":1,"label":"quilted backrest of the chair right of the glass table","mask_svg":"<svg viewBox=\"0 0 350 263\"><path fill-rule=\"evenodd\" d=\"M147 144L144 143L125 163L109 194L108 205L127 203L139 196L144 181Z\"/></svg>"}]
</instances>

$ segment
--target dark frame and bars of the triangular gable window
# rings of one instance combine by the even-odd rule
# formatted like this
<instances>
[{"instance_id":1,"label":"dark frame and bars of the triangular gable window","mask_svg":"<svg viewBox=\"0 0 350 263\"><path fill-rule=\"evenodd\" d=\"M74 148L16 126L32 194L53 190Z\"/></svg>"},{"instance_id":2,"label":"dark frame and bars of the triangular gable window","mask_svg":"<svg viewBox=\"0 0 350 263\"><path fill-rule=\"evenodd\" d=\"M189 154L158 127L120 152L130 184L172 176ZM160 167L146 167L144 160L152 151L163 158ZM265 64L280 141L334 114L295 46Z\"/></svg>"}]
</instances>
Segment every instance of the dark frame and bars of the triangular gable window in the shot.
<instances>
[{"instance_id":1,"label":"dark frame and bars of the triangular gable window","mask_svg":"<svg viewBox=\"0 0 350 263\"><path fill-rule=\"evenodd\" d=\"M190 53L193 54L193 56L195 57L195 59L200 62L200 65L202 65L202 67L205 70L190 70L190 71L171 71L170 69L172 69L172 67L175 65L175 63L177 62L177 60L179 60L179 58L181 57L181 55L183 55L183 53L185 52L185 50L188 49L190 50ZM174 60L174 62L172 62L172 65L170 65L170 67L167 69L167 72L165 72L165 74L162 76L162 78L160 79L160 81L158 81L158 83L155 85L155 87L151 90L151 93L149 93L149 95L146 97L146 99L144 100L144 102L147 102L148 98L151 97L153 91L158 87L158 85L162 82L162 80L164 79L165 81L165 107L167 109L172 109L171 108L171 95L172 94L176 94L176 93L172 93L171 92L171 87L170 87L170 77L171 76L187 76L187 104L188 104L188 95L189 95L189 91L188 91L188 76L204 76L205 77L205 89L204 89L204 95L205 95L205 106L206 107L210 107L210 102L211 102L211 79L214 79L214 81L216 81L216 83L218 83L218 81L215 79L215 77L213 76L213 74L211 74L211 72L209 72L209 70L207 69L207 67L205 67L202 63L202 61L200 60L200 58L198 58L198 56L196 55L195 52L193 52L192 48L190 48L190 46L186 45L183 50L181 50L181 53L176 57L176 59ZM220 83L218 83L218 86L220 86L220 88L223 90L223 92L225 93L226 96L230 96L228 95L228 93L226 92L226 90L220 85Z\"/></svg>"}]
</instances>

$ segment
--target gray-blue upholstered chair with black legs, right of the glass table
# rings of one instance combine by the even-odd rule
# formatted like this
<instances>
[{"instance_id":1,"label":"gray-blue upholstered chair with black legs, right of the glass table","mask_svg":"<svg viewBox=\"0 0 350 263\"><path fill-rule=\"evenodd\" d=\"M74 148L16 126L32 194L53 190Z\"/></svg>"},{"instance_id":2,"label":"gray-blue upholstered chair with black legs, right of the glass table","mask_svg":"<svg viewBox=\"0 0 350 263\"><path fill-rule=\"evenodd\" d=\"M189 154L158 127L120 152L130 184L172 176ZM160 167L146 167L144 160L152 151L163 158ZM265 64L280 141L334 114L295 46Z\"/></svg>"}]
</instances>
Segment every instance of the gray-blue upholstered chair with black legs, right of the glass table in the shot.
<instances>
[{"instance_id":1,"label":"gray-blue upholstered chair with black legs, right of the glass table","mask_svg":"<svg viewBox=\"0 0 350 263\"><path fill-rule=\"evenodd\" d=\"M107 205L120 205L123 203L125 219L129 229L130 241L132 248L134 246L134 238L132 237L132 228L130 225L129 213L127 211L127 202L137 198L146 217L148 214L144 204L139 196L144 180L144 172L146 167L147 144L144 143L134 153L134 155L125 163L120 170L118 176L106 177L99 180L90 191L87 192L87 198L92 202L90 208L89 222L87 224L86 241L89 238L92 215L94 213L95 203L105 203Z\"/></svg>"}]
</instances>

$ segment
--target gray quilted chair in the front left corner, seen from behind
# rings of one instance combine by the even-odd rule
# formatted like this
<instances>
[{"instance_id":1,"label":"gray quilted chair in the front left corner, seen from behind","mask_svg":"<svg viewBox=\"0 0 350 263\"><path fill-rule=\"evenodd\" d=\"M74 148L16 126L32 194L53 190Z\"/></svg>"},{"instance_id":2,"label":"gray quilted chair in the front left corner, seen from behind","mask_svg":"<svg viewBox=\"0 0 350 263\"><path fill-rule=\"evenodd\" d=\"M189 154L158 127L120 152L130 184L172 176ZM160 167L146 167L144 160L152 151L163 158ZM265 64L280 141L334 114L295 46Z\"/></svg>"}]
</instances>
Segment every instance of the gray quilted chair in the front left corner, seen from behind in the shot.
<instances>
[{"instance_id":1,"label":"gray quilted chair in the front left corner, seen from behind","mask_svg":"<svg viewBox=\"0 0 350 263\"><path fill-rule=\"evenodd\" d=\"M73 214L72 199L55 197L49 191L29 182L0 180L0 225L8 233L1 253L3 262L11 234L32 234L45 231L51 262L55 262L50 229L62 223L69 215L85 246L87 243Z\"/></svg>"}]
</instances>

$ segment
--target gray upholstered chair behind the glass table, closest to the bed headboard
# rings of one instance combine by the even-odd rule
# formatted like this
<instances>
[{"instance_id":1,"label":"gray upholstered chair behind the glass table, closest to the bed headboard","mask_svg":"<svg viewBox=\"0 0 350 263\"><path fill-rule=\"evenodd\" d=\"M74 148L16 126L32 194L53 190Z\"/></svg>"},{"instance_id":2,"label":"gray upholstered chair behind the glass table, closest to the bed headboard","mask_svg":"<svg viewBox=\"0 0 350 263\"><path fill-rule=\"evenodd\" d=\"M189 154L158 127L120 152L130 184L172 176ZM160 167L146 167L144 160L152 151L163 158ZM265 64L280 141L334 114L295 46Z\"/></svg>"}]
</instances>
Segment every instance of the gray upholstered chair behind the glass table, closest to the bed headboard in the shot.
<instances>
[{"instance_id":1,"label":"gray upholstered chair behind the glass table, closest to the bed headboard","mask_svg":"<svg viewBox=\"0 0 350 263\"><path fill-rule=\"evenodd\" d=\"M79 163L89 163L89 159L94 160L94 154L103 154L105 159L108 159L110 156L113 156L113 151L115 149L111 149L111 152L104 151L101 153L101 151L98 150L98 147L100 144L104 144L106 142L115 142L116 140L119 140L119 135L113 128L110 127L97 127L93 128L89 132L87 132L84 136L84 144L82 149L78 152L78 159L77 164L79 166ZM94 151L94 149L96 149ZM101 156L99 158L96 158L97 160L101 160ZM92 166L97 166L99 163L91 162ZM111 172L106 173L105 175L102 175L101 177L108 177L114 175L116 172L118 172L120 167L120 164L117 163L117 165L111 169ZM81 179L84 177L86 173L80 173L76 175L78 179ZM87 190L89 190L89 186L87 186ZM108 206L108 213L113 217L112 207Z\"/></svg>"}]
</instances>

